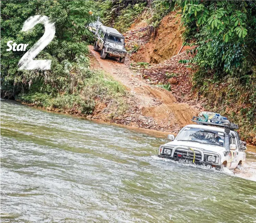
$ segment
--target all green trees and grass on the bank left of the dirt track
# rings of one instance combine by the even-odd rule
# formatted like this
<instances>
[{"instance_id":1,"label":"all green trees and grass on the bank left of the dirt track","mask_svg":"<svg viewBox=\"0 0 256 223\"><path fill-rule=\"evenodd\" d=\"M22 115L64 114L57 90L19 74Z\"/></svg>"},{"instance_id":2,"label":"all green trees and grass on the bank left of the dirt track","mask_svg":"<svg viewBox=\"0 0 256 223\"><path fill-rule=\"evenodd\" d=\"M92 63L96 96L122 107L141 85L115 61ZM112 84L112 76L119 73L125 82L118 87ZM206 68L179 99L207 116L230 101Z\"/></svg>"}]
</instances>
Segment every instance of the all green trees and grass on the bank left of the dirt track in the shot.
<instances>
[{"instance_id":1,"label":"all green trees and grass on the bank left of the dirt track","mask_svg":"<svg viewBox=\"0 0 256 223\"><path fill-rule=\"evenodd\" d=\"M125 88L99 71L90 71L85 29L95 21L94 1L1 1L1 97L15 98L35 106L71 113L90 114L96 101L112 106L111 117L127 109ZM30 15L42 14L55 22L52 42L36 59L51 59L51 70L18 70L25 52L6 51L7 42L28 43L28 49L44 33L42 24L21 32Z\"/></svg>"}]
</instances>

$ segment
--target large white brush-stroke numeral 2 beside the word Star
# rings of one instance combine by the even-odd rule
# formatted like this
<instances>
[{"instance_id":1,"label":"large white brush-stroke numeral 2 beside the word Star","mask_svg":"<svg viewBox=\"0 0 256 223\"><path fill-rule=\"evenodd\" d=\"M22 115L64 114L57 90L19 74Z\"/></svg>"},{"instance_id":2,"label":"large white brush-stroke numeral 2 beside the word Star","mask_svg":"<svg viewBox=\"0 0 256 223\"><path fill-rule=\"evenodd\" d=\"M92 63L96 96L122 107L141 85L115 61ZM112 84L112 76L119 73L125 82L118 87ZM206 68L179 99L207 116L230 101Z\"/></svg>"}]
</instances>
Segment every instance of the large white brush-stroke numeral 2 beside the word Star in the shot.
<instances>
[{"instance_id":1,"label":"large white brush-stroke numeral 2 beside the word Star","mask_svg":"<svg viewBox=\"0 0 256 223\"><path fill-rule=\"evenodd\" d=\"M33 60L53 39L55 35L55 24L50 22L45 15L30 16L22 27L22 31L32 30L36 24L43 24L45 32L38 42L36 42L18 63L19 70L50 70L52 60Z\"/></svg>"}]
</instances>

